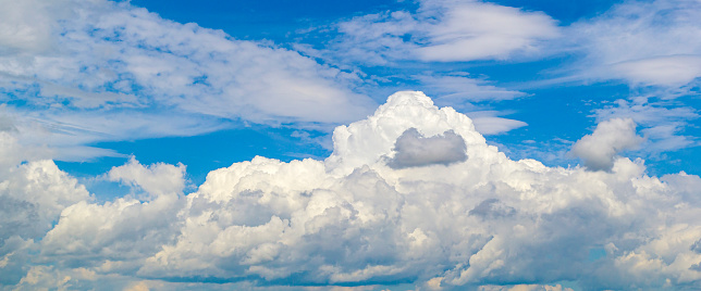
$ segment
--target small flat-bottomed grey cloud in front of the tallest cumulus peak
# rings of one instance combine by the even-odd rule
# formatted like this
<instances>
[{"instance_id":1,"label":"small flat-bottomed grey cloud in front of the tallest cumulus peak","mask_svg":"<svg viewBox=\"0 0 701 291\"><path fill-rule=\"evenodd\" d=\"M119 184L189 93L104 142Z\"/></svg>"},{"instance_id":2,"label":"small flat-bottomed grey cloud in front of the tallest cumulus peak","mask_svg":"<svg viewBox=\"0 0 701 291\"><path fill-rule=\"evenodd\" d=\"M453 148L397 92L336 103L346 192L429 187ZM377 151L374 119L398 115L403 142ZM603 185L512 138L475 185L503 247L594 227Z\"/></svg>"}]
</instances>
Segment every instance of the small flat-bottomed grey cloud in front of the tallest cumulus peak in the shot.
<instances>
[{"instance_id":1,"label":"small flat-bottomed grey cloud in front of the tallest cumulus peak","mask_svg":"<svg viewBox=\"0 0 701 291\"><path fill-rule=\"evenodd\" d=\"M416 128L409 128L397 138L394 151L388 161L392 168L448 165L467 160L465 140L453 130L423 137Z\"/></svg>"}]
</instances>

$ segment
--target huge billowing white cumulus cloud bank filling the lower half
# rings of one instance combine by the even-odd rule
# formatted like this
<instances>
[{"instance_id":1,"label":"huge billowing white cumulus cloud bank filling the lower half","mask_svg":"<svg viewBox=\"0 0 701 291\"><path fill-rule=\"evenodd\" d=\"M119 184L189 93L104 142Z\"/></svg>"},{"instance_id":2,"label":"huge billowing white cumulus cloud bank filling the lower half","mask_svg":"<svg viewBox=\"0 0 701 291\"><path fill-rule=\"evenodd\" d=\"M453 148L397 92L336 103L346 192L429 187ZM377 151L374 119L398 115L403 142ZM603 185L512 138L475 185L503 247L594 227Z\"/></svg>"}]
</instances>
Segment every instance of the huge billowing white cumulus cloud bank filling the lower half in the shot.
<instances>
[{"instance_id":1,"label":"huge billowing white cumulus cloud bank filling the lower half","mask_svg":"<svg viewBox=\"0 0 701 291\"><path fill-rule=\"evenodd\" d=\"M333 141L324 161L258 156L188 194L183 166L132 160L109 177L150 195L99 203L50 161L14 166L0 182L0 205L14 205L0 211L2 283L701 288L698 176L650 177L626 157L610 172L512 161L470 118L413 91ZM451 149L467 159L414 152ZM393 165L403 152L411 166Z\"/></svg>"}]
</instances>

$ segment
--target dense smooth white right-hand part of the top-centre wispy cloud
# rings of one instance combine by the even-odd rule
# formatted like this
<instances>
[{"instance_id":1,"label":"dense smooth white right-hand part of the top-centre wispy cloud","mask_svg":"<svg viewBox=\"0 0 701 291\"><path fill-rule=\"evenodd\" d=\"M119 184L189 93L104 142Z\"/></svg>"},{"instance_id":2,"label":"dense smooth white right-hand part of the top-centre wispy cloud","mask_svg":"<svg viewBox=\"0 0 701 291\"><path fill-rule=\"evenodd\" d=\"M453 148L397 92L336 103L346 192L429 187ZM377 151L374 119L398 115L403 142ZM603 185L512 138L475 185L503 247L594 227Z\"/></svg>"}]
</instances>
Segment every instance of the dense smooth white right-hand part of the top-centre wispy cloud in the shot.
<instances>
[{"instance_id":1,"label":"dense smooth white right-hand part of the top-centre wispy cloud","mask_svg":"<svg viewBox=\"0 0 701 291\"><path fill-rule=\"evenodd\" d=\"M422 1L423 13L438 16L426 23L429 45L417 53L423 61L506 59L537 51L539 40L558 36L550 16L481 1Z\"/></svg>"}]
</instances>

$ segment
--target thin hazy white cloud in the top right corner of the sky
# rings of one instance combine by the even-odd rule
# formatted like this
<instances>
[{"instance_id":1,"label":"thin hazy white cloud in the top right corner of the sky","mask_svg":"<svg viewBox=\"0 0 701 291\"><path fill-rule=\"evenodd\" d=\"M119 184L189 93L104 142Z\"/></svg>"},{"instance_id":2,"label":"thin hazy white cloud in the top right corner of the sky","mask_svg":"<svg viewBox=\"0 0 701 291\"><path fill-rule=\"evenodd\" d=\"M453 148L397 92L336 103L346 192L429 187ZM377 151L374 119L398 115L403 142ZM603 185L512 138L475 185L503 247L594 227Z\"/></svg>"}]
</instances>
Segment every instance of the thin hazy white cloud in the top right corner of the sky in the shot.
<instances>
[{"instance_id":1,"label":"thin hazy white cloud in the top right corner of the sky","mask_svg":"<svg viewBox=\"0 0 701 291\"><path fill-rule=\"evenodd\" d=\"M586 55L587 78L631 86L684 87L701 77L701 3L625 1L567 28Z\"/></svg>"}]
</instances>

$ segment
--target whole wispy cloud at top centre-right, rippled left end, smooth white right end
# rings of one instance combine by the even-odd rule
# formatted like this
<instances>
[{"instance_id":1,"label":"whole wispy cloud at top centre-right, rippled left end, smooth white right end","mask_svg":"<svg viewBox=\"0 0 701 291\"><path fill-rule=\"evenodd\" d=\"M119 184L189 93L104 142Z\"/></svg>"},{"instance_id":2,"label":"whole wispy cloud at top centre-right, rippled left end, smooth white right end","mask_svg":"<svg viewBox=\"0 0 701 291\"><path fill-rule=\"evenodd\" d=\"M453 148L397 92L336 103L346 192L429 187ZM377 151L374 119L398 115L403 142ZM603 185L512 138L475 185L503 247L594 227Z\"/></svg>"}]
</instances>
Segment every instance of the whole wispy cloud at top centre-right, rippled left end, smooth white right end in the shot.
<instances>
[{"instance_id":1,"label":"whole wispy cloud at top centre-right, rippled left end, smooth white right end","mask_svg":"<svg viewBox=\"0 0 701 291\"><path fill-rule=\"evenodd\" d=\"M401 60L456 62L504 60L539 51L558 36L554 20L541 12L482 1L419 1L416 12L388 11L337 25L330 52L366 64Z\"/></svg>"}]
</instances>

